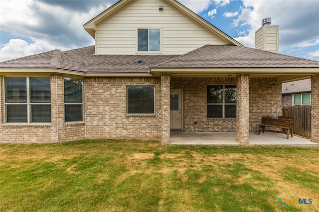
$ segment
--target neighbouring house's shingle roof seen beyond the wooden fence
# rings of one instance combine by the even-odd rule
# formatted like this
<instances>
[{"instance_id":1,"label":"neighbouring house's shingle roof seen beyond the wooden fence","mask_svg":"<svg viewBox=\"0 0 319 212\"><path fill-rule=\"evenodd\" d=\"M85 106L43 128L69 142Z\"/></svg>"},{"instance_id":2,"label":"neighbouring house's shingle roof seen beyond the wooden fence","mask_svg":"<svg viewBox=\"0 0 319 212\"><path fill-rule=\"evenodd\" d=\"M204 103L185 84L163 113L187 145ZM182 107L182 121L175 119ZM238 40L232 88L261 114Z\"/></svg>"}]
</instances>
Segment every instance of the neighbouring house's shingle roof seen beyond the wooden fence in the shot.
<instances>
[{"instance_id":1,"label":"neighbouring house's shingle roof seen beyond the wooden fence","mask_svg":"<svg viewBox=\"0 0 319 212\"><path fill-rule=\"evenodd\" d=\"M310 93L311 92L311 80L298 80L289 83L283 83L282 94L295 94L295 93Z\"/></svg>"}]
</instances>

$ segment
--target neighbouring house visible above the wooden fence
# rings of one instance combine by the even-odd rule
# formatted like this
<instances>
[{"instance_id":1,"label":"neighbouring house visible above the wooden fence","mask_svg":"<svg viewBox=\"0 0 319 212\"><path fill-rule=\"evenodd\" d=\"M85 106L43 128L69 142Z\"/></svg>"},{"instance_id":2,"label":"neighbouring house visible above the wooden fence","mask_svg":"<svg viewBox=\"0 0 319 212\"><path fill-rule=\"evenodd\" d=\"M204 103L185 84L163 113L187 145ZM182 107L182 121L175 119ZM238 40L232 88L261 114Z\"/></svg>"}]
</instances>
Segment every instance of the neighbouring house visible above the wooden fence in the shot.
<instances>
[{"instance_id":1,"label":"neighbouring house visible above the wooden fence","mask_svg":"<svg viewBox=\"0 0 319 212\"><path fill-rule=\"evenodd\" d=\"M282 105L309 106L311 105L311 80L298 80L283 83Z\"/></svg>"}]
</instances>

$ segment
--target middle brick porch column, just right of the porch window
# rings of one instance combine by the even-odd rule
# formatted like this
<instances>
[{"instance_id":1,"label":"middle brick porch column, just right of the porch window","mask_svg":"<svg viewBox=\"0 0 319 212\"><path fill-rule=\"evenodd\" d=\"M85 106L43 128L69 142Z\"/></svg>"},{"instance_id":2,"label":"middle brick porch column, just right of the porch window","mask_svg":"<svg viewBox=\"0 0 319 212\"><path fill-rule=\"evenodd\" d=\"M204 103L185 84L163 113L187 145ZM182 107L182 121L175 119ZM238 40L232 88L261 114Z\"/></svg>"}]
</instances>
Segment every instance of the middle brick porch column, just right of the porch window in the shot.
<instances>
[{"instance_id":1,"label":"middle brick porch column, just right of the porch window","mask_svg":"<svg viewBox=\"0 0 319 212\"><path fill-rule=\"evenodd\" d=\"M249 74L237 76L236 141L249 143Z\"/></svg>"}]
</instances>

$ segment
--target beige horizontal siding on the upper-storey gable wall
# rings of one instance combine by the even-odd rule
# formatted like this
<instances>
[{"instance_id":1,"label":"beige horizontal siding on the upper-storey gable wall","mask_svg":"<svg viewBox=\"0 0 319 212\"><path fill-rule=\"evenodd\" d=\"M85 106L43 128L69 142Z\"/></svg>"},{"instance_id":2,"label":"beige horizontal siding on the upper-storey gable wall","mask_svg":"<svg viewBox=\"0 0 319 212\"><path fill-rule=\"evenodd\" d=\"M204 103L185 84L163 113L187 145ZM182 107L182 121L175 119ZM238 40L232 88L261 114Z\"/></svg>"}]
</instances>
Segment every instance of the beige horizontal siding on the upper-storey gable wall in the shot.
<instances>
[{"instance_id":1,"label":"beige horizontal siding on the upper-storey gable wall","mask_svg":"<svg viewBox=\"0 0 319 212\"><path fill-rule=\"evenodd\" d=\"M163 5L162 11L159 5ZM205 44L225 44L161 0L135 1L96 27L96 54L133 55L137 29L161 29L161 53L184 54Z\"/></svg>"}]
</instances>

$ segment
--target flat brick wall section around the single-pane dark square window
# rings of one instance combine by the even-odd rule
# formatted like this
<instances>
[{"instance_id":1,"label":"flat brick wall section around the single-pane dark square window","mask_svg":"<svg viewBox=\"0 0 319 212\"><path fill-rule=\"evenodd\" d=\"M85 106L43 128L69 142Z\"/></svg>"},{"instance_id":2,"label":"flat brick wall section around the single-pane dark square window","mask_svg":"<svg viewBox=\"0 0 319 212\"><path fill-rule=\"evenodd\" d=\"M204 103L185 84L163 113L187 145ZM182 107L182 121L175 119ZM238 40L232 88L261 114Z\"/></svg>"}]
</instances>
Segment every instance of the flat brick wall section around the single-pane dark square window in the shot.
<instances>
[{"instance_id":1,"label":"flat brick wall section around the single-pane dark square window","mask_svg":"<svg viewBox=\"0 0 319 212\"><path fill-rule=\"evenodd\" d=\"M127 114L127 86L155 86L155 114ZM160 78L85 78L88 138L161 137Z\"/></svg>"}]
</instances>

